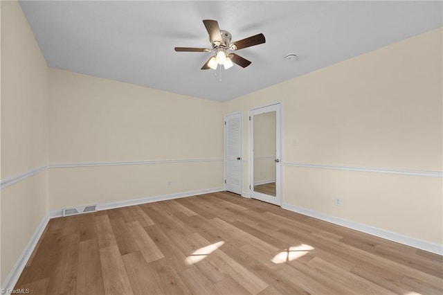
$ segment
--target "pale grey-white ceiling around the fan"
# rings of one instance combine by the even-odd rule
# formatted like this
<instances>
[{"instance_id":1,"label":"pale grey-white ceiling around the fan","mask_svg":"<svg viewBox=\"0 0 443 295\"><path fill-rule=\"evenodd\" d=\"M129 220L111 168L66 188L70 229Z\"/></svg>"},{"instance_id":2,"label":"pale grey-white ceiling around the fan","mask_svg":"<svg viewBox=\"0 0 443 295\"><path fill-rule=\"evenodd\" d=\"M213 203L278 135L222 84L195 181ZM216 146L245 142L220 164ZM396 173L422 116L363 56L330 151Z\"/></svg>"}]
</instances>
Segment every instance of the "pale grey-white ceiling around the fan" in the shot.
<instances>
[{"instance_id":1,"label":"pale grey-white ceiling around the fan","mask_svg":"<svg viewBox=\"0 0 443 295\"><path fill-rule=\"evenodd\" d=\"M225 101L442 26L441 1L21 1L48 66ZM203 19L266 43L215 77ZM298 60L284 60L296 53ZM405 62L408 62L407 60ZM217 75L219 71L217 71Z\"/></svg>"}]
</instances>

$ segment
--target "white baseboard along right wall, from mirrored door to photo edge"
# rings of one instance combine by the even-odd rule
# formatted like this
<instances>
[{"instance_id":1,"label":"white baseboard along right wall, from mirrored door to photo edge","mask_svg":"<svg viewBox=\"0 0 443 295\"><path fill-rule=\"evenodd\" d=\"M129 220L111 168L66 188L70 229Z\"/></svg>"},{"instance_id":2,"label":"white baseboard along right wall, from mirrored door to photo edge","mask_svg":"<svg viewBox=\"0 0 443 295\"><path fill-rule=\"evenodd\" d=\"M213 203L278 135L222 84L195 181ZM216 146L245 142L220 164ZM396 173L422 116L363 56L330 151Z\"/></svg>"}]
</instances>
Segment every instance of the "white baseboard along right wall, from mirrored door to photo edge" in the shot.
<instances>
[{"instance_id":1,"label":"white baseboard along right wall, from mirrored door to photo edge","mask_svg":"<svg viewBox=\"0 0 443 295\"><path fill-rule=\"evenodd\" d=\"M368 233L370 235L375 235L376 237L383 238L386 240L391 240L400 244L406 244L410 247L415 247L417 249L422 249L424 251L436 253L443 255L443 245L436 244L433 242L427 242L424 240L419 240L417 238L411 238L407 235L401 235L400 233L394 233L392 231L386 231L385 229L379 229L374 226L361 224L359 222L353 222L351 220L345 220L340 217L335 217L332 215L327 215L317 211L311 211L309 209L301 208L298 206L293 206L291 204L283 203L282 208L300 213L302 215L307 215L310 217L317 218L319 220L324 220L325 222L331 222L340 226L344 226L348 229L354 229L356 231L361 231L363 233Z\"/></svg>"}]
</instances>

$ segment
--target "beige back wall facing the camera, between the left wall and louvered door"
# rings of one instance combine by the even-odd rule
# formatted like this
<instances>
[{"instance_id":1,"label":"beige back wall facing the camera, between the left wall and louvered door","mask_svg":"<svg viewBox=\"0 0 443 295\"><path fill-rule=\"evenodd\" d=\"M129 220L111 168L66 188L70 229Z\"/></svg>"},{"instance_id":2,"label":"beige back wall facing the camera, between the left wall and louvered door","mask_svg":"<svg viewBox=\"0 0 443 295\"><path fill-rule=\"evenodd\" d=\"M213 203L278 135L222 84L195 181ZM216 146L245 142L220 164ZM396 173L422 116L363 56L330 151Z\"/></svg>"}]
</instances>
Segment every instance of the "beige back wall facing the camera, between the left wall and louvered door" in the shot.
<instances>
[{"instance_id":1,"label":"beige back wall facing the camera, between the left wall and louvered door","mask_svg":"<svg viewBox=\"0 0 443 295\"><path fill-rule=\"evenodd\" d=\"M219 159L53 168L51 210L223 186L219 102L58 69L49 75L50 163Z\"/></svg>"}]
</instances>

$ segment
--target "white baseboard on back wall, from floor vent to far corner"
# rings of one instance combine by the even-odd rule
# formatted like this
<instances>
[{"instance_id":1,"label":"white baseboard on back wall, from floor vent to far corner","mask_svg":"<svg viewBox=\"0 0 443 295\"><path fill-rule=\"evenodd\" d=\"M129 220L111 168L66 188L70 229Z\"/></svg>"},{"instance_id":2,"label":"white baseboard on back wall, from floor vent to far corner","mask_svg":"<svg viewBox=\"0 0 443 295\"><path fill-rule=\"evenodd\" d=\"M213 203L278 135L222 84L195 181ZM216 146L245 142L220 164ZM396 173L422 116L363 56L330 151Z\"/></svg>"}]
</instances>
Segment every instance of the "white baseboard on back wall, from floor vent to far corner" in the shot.
<instances>
[{"instance_id":1,"label":"white baseboard on back wall, from floor vent to far corner","mask_svg":"<svg viewBox=\"0 0 443 295\"><path fill-rule=\"evenodd\" d=\"M159 202L159 201L165 201L167 199L179 199L181 197L192 197L195 195L204 195L208 193L217 193L224 191L223 187L219 188L206 188L203 190L192 190L190 192L183 192L183 193L174 193L174 194L168 194L168 195L160 195L155 197L142 197L140 199L129 199L126 201L120 201L120 202L110 202L110 203L103 203L97 205L97 211L102 210L108 210L108 209L114 209L114 208L121 208L121 207L127 207L127 206L134 206L134 205L140 205L140 204L146 204L146 203L152 203L152 202Z\"/></svg>"}]
</instances>

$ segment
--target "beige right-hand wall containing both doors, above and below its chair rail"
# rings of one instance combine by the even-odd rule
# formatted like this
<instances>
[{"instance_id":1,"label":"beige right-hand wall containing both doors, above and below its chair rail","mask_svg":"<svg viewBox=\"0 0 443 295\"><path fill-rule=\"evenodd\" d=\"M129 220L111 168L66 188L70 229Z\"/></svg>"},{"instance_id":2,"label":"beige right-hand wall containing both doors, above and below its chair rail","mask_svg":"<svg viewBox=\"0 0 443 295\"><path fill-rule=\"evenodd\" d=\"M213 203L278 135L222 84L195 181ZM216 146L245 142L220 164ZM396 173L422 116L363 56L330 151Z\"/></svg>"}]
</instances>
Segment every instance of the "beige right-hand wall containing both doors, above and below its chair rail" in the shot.
<instances>
[{"instance_id":1,"label":"beige right-hand wall containing both doors, above and below its chair rail","mask_svg":"<svg viewBox=\"0 0 443 295\"><path fill-rule=\"evenodd\" d=\"M438 29L231 100L226 113L247 118L281 100L284 163L442 171L442 96ZM243 134L247 159L246 120ZM284 203L443 244L441 178L293 166L282 175Z\"/></svg>"}]
</instances>

